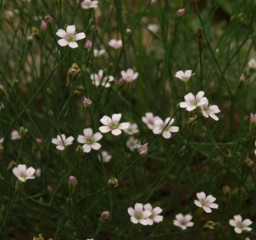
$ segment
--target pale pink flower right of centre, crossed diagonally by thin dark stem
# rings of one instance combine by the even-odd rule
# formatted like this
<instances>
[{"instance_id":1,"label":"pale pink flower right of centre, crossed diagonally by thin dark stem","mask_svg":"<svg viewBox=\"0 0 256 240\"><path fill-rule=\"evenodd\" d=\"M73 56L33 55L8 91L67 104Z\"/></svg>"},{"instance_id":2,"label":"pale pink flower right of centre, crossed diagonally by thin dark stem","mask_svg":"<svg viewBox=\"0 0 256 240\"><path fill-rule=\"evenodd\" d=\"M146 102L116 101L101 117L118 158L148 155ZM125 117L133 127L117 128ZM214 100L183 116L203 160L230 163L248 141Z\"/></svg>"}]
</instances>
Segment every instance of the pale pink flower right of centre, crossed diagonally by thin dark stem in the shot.
<instances>
[{"instance_id":1,"label":"pale pink flower right of centre, crossed diagonally by thin dark stem","mask_svg":"<svg viewBox=\"0 0 256 240\"><path fill-rule=\"evenodd\" d=\"M162 135L164 139L170 139L170 133L176 133L179 131L179 127L171 126L171 124L174 122L175 119L170 119L170 117L167 117L164 122L162 119L157 119L154 122L153 133L161 134L163 132Z\"/></svg>"}]
</instances>

